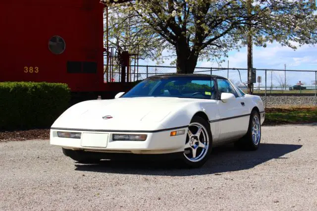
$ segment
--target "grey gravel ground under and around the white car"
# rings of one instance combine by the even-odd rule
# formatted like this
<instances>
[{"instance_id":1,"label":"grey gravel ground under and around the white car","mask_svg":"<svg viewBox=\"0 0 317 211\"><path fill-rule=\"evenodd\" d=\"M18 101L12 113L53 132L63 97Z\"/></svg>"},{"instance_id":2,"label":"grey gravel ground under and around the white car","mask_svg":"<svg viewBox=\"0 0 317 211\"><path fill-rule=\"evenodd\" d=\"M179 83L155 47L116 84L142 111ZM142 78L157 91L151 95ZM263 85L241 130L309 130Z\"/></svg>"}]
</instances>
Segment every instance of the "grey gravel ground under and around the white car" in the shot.
<instances>
[{"instance_id":1,"label":"grey gravel ground under and around the white car","mask_svg":"<svg viewBox=\"0 0 317 211\"><path fill-rule=\"evenodd\" d=\"M78 164L48 140L0 143L0 210L317 210L317 124L264 126L257 152L200 169Z\"/></svg>"}]
</instances>

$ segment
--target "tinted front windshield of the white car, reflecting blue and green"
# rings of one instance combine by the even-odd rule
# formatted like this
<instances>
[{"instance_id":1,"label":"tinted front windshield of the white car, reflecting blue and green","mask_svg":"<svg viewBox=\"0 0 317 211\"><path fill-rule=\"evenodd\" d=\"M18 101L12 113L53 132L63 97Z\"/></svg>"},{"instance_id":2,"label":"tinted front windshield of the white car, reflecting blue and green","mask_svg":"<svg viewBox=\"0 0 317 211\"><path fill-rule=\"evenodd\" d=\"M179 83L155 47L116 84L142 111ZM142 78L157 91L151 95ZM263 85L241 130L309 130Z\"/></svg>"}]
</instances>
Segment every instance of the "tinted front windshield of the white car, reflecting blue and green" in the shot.
<instances>
[{"instance_id":1,"label":"tinted front windshield of the white car, reflecting blue and green","mask_svg":"<svg viewBox=\"0 0 317 211\"><path fill-rule=\"evenodd\" d=\"M216 89L213 80L208 77L154 77L140 82L122 96L122 98L134 97L215 99Z\"/></svg>"}]
</instances>

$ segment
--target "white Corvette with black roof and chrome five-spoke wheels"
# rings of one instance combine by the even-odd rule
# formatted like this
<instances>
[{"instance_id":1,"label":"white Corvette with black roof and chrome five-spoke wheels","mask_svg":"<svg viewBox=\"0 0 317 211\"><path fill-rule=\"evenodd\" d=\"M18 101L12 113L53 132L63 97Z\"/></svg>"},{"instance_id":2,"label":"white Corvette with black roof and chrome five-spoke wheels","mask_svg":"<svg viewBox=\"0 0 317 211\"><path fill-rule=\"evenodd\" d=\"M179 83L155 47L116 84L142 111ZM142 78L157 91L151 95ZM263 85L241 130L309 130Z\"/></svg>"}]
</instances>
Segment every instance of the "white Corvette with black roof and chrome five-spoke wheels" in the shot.
<instances>
[{"instance_id":1,"label":"white Corvette with black roof and chrome five-spoke wheels","mask_svg":"<svg viewBox=\"0 0 317 211\"><path fill-rule=\"evenodd\" d=\"M226 78L160 75L115 99L71 106L53 123L50 143L85 163L149 156L200 167L217 145L257 150L264 116L261 98Z\"/></svg>"}]
</instances>

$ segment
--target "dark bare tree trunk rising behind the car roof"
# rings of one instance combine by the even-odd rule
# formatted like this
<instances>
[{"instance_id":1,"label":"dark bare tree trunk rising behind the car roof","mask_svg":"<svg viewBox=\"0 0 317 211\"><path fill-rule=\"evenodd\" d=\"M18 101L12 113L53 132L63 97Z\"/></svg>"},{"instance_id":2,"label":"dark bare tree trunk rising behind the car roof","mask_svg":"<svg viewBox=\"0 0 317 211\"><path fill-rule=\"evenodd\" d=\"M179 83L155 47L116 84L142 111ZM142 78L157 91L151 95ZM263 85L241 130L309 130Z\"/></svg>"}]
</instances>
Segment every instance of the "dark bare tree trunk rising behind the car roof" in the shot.
<instances>
[{"instance_id":1,"label":"dark bare tree trunk rising behind the car roof","mask_svg":"<svg viewBox=\"0 0 317 211\"><path fill-rule=\"evenodd\" d=\"M193 48L194 49L194 48ZM176 46L176 68L177 73L190 74L193 73L197 65L199 53L190 50L187 43L179 42Z\"/></svg>"}]
</instances>

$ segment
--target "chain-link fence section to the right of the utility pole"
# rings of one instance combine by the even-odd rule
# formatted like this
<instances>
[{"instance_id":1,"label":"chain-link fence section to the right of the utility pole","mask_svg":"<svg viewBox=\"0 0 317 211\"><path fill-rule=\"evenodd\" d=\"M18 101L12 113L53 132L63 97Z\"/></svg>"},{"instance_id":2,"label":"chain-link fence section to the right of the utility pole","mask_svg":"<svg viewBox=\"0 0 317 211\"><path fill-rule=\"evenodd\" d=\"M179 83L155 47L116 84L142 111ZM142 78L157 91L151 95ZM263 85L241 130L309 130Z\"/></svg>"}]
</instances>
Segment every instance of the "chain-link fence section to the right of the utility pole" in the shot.
<instances>
[{"instance_id":1,"label":"chain-link fence section to the right of the utility pole","mask_svg":"<svg viewBox=\"0 0 317 211\"><path fill-rule=\"evenodd\" d=\"M317 71L257 70L262 83L254 84L254 94L266 107L317 106Z\"/></svg>"}]
</instances>

